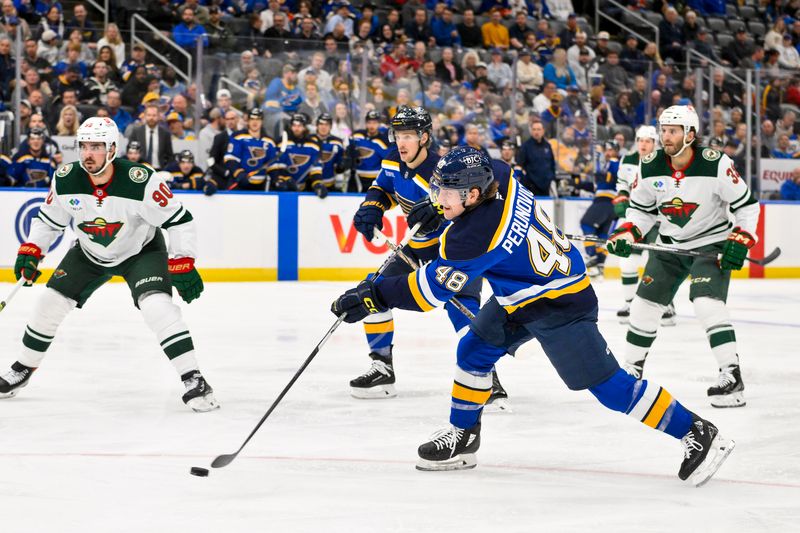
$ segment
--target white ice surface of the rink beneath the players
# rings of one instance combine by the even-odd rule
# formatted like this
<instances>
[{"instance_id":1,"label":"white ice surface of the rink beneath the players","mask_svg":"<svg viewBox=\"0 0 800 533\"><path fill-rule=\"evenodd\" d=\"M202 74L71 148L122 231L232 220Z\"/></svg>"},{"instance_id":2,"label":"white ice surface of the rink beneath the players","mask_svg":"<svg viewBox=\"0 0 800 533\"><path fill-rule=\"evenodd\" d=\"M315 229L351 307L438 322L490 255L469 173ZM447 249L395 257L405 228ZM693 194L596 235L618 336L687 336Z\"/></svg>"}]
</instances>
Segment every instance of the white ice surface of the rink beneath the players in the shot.
<instances>
[{"instance_id":1,"label":"white ice surface of the rink beneath the players","mask_svg":"<svg viewBox=\"0 0 800 533\"><path fill-rule=\"evenodd\" d=\"M356 400L369 366L342 325L243 454L238 448L333 322L349 284L208 284L182 305L222 409L190 412L124 284L62 325L30 385L0 401L0 531L800 531L800 282L734 280L729 300L747 406L718 410L717 369L687 287L646 377L737 442L717 476L677 478L679 443L570 392L540 348L498 368L514 412L486 414L478 467L418 472L447 423L455 334L441 310L395 314L399 396ZM0 284L0 295L10 290ZM624 351L619 281L596 283L600 327ZM38 285L0 314L0 368L15 360Z\"/></svg>"}]
</instances>

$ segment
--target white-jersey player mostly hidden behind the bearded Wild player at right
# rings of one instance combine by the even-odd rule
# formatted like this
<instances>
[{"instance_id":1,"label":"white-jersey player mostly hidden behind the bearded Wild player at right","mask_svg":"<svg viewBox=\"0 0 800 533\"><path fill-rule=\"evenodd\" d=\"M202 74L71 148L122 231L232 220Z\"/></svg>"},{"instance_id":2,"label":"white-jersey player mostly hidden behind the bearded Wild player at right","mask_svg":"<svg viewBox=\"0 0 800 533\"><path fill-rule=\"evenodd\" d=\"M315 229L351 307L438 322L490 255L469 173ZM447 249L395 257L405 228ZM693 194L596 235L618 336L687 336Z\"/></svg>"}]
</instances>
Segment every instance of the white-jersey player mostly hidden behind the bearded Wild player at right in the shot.
<instances>
[{"instance_id":1,"label":"white-jersey player mostly hidden behind the bearded Wild player at right","mask_svg":"<svg viewBox=\"0 0 800 533\"><path fill-rule=\"evenodd\" d=\"M631 185L639 175L639 161L658 148L658 132L655 126L640 126L636 130L635 142L636 150L622 158L617 171L617 196L614 198L613 204L614 212L619 217L618 225L625 223L625 215L630 206ZM645 235L645 241L653 242L657 235L658 225L655 225ZM641 258L642 252L634 250L630 257L622 257L619 260L619 269L622 273L622 295L625 298L625 306L617 311L617 317L621 324L627 324L631 315L631 302L636 294L636 286L639 284ZM672 302L661 317L661 325L675 325L675 306L672 305Z\"/></svg>"}]
</instances>

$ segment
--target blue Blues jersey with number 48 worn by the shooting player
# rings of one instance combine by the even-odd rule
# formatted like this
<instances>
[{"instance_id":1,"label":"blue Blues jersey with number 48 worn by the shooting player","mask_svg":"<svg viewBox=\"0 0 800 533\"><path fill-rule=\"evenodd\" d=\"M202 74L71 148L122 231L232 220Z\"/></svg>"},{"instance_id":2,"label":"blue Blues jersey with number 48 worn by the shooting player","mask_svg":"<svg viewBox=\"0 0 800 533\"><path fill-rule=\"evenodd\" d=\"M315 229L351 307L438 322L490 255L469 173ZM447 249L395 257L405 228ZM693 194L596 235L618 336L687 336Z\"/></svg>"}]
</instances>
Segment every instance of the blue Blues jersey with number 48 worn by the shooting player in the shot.
<instances>
[{"instance_id":1,"label":"blue Blues jersey with number 48 worn by the shooting player","mask_svg":"<svg viewBox=\"0 0 800 533\"><path fill-rule=\"evenodd\" d=\"M510 169L495 179L498 196L445 229L439 257L408 276L376 283L383 303L429 311L484 277L509 320L522 323L531 320L526 309L535 308L528 307L533 302L589 287L580 251L555 227L533 193L513 179Z\"/></svg>"}]
</instances>

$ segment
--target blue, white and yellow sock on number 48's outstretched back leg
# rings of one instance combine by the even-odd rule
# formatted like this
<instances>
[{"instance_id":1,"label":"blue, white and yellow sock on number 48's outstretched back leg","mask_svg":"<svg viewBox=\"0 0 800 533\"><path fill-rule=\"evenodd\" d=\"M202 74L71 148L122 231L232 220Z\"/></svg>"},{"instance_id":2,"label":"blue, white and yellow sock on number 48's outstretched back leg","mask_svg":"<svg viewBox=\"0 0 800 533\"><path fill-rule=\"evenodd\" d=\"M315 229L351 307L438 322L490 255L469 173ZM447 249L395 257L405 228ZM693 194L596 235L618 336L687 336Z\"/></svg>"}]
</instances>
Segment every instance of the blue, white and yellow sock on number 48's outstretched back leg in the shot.
<instances>
[{"instance_id":1,"label":"blue, white and yellow sock on number 48's outstretched back leg","mask_svg":"<svg viewBox=\"0 0 800 533\"><path fill-rule=\"evenodd\" d=\"M614 411L625 413L676 439L682 438L692 424L692 413L672 395L646 379L636 379L624 370L589 389L597 400Z\"/></svg>"}]
</instances>

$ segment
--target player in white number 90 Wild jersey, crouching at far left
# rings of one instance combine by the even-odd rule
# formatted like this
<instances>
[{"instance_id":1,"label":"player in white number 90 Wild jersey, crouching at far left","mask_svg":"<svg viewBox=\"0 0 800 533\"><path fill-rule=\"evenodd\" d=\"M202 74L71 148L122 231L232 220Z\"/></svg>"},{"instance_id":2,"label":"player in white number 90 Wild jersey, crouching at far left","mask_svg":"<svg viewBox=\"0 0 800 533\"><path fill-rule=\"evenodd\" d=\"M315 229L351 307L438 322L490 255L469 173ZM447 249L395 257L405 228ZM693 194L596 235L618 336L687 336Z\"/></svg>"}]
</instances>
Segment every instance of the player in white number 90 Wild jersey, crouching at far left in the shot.
<instances>
[{"instance_id":1,"label":"player in white number 90 Wild jersey, crouching at far left","mask_svg":"<svg viewBox=\"0 0 800 533\"><path fill-rule=\"evenodd\" d=\"M172 286L187 303L203 291L194 268L197 239L191 213L160 173L116 158L119 130L111 119L93 117L81 124L78 146L78 164L55 172L28 242L17 252L17 279L24 277L31 285L39 278L39 261L70 223L77 243L47 282L25 328L19 358L0 375L0 398L15 396L28 384L67 314L118 275L181 377L184 403L198 412L218 408L198 369L181 310L172 301ZM161 229L169 233L169 248Z\"/></svg>"}]
</instances>

